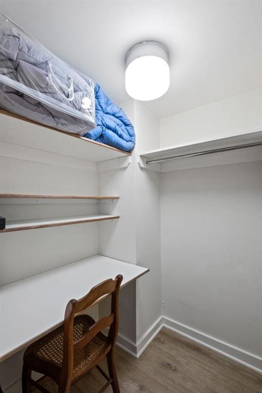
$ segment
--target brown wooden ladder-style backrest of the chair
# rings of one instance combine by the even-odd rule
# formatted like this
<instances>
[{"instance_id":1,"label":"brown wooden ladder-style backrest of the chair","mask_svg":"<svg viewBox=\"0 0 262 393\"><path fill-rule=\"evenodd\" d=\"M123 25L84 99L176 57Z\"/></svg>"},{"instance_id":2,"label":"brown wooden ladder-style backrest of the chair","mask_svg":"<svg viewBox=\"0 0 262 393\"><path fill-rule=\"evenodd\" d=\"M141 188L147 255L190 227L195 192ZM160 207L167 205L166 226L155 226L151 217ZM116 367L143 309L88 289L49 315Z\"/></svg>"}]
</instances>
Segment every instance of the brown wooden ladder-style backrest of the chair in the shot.
<instances>
[{"instance_id":1,"label":"brown wooden ladder-style backrest of the chair","mask_svg":"<svg viewBox=\"0 0 262 393\"><path fill-rule=\"evenodd\" d=\"M115 345L118 326L119 326L119 289L123 276L118 275L116 278L108 279L96 287L81 299L72 299L68 302L64 314L64 335L63 335L63 364L62 364L62 382L67 384L71 379L74 367L74 351L81 350L88 344L99 332L108 328L108 340L112 346ZM74 341L74 318L76 314L99 303L102 299L111 295L111 314L107 317L100 318L95 322L81 338ZM64 386L65 388L65 386ZM67 390L65 388L65 390Z\"/></svg>"}]
</instances>

